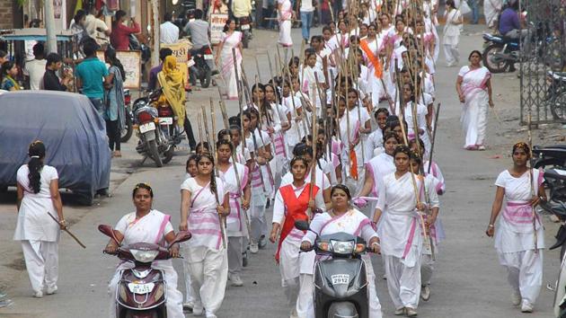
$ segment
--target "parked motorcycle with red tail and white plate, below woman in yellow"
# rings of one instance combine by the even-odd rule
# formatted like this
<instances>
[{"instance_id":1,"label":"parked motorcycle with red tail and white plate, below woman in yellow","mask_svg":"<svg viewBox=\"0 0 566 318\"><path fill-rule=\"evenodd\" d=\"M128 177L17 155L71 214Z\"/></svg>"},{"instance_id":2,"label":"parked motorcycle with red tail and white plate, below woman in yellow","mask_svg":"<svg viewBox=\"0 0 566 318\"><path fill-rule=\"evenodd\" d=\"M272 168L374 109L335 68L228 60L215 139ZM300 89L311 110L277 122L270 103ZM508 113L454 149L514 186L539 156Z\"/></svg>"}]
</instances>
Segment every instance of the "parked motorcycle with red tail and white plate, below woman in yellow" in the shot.
<instances>
[{"instance_id":1,"label":"parked motorcycle with red tail and white plate, below woman in yellow","mask_svg":"<svg viewBox=\"0 0 566 318\"><path fill-rule=\"evenodd\" d=\"M159 124L159 112L152 105L159 95L161 89L149 93L148 96L142 97L134 102L133 113L137 126L137 137L139 143L136 151L140 155L151 157L158 167L162 167L164 163L169 163L173 155L173 144L170 138L164 134L164 130L160 127L157 129L155 124Z\"/></svg>"}]
</instances>

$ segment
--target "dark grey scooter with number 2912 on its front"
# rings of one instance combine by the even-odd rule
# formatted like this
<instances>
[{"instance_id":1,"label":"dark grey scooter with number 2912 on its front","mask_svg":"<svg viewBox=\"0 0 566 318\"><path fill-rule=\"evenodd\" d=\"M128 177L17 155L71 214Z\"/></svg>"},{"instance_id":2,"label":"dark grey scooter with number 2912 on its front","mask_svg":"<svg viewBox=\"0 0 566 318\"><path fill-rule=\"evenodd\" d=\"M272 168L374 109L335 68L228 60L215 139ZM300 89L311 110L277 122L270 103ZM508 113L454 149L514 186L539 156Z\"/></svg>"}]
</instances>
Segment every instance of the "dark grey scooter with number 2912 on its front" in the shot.
<instances>
[{"instance_id":1,"label":"dark grey scooter with number 2912 on its front","mask_svg":"<svg viewBox=\"0 0 566 318\"><path fill-rule=\"evenodd\" d=\"M311 231L306 221L296 221L295 227ZM311 250L332 259L314 265L314 316L368 317L369 284L366 263L361 259L366 242L347 233L316 236Z\"/></svg>"}]
</instances>

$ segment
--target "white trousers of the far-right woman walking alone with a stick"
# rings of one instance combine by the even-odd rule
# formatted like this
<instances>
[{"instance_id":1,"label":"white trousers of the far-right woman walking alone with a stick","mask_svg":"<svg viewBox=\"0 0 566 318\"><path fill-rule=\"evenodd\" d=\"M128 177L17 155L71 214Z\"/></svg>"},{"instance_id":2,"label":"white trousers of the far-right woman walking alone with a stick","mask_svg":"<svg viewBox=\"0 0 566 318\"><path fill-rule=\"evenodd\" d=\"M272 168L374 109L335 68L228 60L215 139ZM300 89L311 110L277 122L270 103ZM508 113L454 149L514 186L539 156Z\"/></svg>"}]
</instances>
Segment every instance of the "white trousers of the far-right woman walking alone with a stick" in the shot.
<instances>
[{"instance_id":1,"label":"white trousers of the far-right woman walking alone with a stick","mask_svg":"<svg viewBox=\"0 0 566 318\"><path fill-rule=\"evenodd\" d=\"M543 285L543 249L523 252L498 252L500 264L507 269L511 287L521 293L523 302L535 304Z\"/></svg>"}]
</instances>

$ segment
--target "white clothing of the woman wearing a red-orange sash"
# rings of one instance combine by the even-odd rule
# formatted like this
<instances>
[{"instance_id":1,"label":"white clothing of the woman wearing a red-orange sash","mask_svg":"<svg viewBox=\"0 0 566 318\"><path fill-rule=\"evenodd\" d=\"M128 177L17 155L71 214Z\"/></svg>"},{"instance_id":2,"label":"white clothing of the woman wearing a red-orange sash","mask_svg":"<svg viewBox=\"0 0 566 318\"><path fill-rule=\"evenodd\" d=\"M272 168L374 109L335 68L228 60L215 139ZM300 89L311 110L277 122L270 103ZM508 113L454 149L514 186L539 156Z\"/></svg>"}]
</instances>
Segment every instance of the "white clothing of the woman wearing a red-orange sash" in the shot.
<instances>
[{"instance_id":1,"label":"white clothing of the woman wearing a red-orange sash","mask_svg":"<svg viewBox=\"0 0 566 318\"><path fill-rule=\"evenodd\" d=\"M308 185L306 181L305 185ZM308 188L296 187L293 183L281 185L290 185L293 188L296 198ZM320 188L319 188L320 189ZM323 191L318 190L314 196L314 203L317 208L324 209ZM287 205L285 199L278 190L273 204L273 223L283 226L287 216ZM285 290L287 296L287 306L291 309L291 315L296 317L310 317L309 313L313 310L313 275L314 275L314 252L299 252L301 247L301 239L303 231L297 230L295 227L281 243L279 252L279 272L281 274L281 287ZM308 277L306 277L308 276Z\"/></svg>"}]
</instances>

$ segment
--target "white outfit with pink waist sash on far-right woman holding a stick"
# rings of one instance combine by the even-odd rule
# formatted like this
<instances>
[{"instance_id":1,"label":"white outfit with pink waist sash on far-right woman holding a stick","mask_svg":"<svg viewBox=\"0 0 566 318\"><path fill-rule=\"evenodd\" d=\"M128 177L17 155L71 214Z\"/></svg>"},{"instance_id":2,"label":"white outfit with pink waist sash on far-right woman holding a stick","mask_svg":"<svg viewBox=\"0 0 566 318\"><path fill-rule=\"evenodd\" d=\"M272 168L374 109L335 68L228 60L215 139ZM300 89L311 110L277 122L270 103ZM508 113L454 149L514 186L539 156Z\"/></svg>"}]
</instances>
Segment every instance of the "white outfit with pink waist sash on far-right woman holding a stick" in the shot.
<instances>
[{"instance_id":1,"label":"white outfit with pink waist sash on far-right woman holding a stick","mask_svg":"<svg viewBox=\"0 0 566 318\"><path fill-rule=\"evenodd\" d=\"M533 169L533 180L536 196L543 173ZM505 205L495 226L495 249L500 264L508 271L513 290L521 295L523 304L535 305L543 284L544 227L535 213L535 252L533 208L528 204L533 198L530 173L515 178L506 170L500 173L495 185L505 189Z\"/></svg>"}]
</instances>

